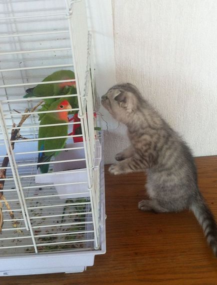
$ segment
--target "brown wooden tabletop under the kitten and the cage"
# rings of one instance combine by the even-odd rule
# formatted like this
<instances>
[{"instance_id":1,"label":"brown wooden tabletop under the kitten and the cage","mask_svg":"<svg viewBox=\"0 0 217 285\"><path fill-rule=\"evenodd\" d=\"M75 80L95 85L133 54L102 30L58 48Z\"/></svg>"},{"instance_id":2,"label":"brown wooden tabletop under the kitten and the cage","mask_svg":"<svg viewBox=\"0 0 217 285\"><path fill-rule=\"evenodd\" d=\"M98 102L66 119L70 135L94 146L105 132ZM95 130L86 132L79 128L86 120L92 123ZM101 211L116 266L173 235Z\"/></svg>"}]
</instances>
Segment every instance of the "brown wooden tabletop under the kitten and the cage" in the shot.
<instances>
[{"instance_id":1,"label":"brown wooden tabletop under the kitten and the cage","mask_svg":"<svg viewBox=\"0 0 217 285\"><path fill-rule=\"evenodd\" d=\"M196 164L200 190L217 219L217 156L197 158ZM74 274L0 277L0 284L217 285L217 259L191 212L137 209L144 180L141 173L105 172L107 252L95 257L94 266Z\"/></svg>"}]
</instances>

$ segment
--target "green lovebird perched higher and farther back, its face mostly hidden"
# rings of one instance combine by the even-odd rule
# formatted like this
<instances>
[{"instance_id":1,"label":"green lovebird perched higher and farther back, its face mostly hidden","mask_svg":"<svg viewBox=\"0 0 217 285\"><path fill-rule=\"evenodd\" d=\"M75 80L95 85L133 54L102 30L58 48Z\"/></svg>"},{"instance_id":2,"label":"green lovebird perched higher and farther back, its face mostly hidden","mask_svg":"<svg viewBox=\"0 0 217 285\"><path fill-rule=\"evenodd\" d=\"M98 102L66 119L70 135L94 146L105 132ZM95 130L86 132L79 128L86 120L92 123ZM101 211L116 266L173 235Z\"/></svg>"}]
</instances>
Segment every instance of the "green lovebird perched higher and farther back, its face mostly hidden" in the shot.
<instances>
[{"instance_id":1,"label":"green lovebird perched higher and farther back, its face mostly hidden","mask_svg":"<svg viewBox=\"0 0 217 285\"><path fill-rule=\"evenodd\" d=\"M42 82L46 81L57 81L57 80L67 80L74 79L74 72L71 70L59 70L56 71L46 78L42 80ZM68 89L68 87L71 87ZM71 93L69 93L69 91ZM76 94L76 84L75 82L62 82L62 83L48 83L48 84L38 84L33 88L29 88L25 90L26 94L23 98L28 97L45 97L45 96L58 96L58 95L66 95L66 94ZM71 97L73 98L73 97ZM50 105L54 101L58 100L58 98L49 98L44 99L46 105ZM70 102L69 102L70 104Z\"/></svg>"}]
</instances>

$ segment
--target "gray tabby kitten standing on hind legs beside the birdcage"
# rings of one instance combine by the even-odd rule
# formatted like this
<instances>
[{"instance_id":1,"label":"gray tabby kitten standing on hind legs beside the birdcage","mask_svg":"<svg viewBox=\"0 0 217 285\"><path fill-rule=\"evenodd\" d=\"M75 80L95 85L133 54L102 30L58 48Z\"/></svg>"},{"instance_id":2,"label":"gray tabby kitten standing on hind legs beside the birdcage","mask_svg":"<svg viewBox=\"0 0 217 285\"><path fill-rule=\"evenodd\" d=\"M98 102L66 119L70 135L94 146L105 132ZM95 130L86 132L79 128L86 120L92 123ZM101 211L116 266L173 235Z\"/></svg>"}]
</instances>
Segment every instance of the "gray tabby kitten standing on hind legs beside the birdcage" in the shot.
<instances>
[{"instance_id":1,"label":"gray tabby kitten standing on hind legs beside the birdcage","mask_svg":"<svg viewBox=\"0 0 217 285\"><path fill-rule=\"evenodd\" d=\"M109 167L116 175L145 171L148 200L138 203L143 211L178 212L190 209L202 226L217 256L217 227L197 186L196 167L189 148L169 125L129 84L111 87L101 104L114 119L127 126L131 145L116 154Z\"/></svg>"}]
</instances>

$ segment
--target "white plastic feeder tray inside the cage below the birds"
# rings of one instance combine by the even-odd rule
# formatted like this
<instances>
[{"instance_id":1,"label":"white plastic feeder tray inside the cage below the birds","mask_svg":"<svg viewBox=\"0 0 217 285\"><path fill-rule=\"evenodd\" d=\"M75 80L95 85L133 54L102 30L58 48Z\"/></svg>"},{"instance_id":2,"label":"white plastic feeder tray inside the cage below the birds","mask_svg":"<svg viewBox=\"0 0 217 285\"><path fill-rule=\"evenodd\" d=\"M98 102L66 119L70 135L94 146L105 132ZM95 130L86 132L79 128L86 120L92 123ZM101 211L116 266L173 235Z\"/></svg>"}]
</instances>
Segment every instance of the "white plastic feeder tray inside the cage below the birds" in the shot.
<instances>
[{"instance_id":1,"label":"white plastic feeder tray inside the cage below the birds","mask_svg":"<svg viewBox=\"0 0 217 285\"><path fill-rule=\"evenodd\" d=\"M79 147L79 149L77 149ZM35 183L52 183L60 199L89 197L87 169L83 142L67 144L66 148L72 150L61 151L56 157L56 161L68 160L53 164L53 172L40 174L38 168L35 175ZM79 160L83 159L83 160ZM74 160L74 161L70 161ZM101 161L101 145L95 141L94 171L99 167ZM59 174L61 172L61 174ZM56 173L56 175L55 175ZM82 183L80 183L82 182ZM75 184L70 184L75 183ZM65 184L65 185L60 185ZM66 195L68 194L68 195Z\"/></svg>"}]
</instances>

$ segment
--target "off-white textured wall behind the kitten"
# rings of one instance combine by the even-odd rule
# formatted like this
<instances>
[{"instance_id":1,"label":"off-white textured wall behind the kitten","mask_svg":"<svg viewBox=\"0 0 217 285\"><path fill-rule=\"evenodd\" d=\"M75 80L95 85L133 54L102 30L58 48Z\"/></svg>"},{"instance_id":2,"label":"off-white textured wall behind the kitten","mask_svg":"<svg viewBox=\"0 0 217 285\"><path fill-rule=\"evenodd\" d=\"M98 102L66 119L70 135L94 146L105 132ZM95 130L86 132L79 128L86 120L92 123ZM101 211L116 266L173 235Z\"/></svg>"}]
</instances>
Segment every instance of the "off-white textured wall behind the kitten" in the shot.
<instances>
[{"instance_id":1,"label":"off-white textured wall behind the kitten","mask_svg":"<svg viewBox=\"0 0 217 285\"><path fill-rule=\"evenodd\" d=\"M217 1L112 0L112 9L116 81L135 84L195 156L217 154ZM107 163L127 144L108 123Z\"/></svg>"}]
</instances>

